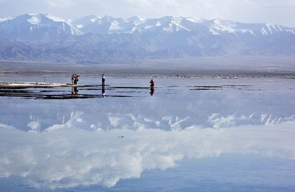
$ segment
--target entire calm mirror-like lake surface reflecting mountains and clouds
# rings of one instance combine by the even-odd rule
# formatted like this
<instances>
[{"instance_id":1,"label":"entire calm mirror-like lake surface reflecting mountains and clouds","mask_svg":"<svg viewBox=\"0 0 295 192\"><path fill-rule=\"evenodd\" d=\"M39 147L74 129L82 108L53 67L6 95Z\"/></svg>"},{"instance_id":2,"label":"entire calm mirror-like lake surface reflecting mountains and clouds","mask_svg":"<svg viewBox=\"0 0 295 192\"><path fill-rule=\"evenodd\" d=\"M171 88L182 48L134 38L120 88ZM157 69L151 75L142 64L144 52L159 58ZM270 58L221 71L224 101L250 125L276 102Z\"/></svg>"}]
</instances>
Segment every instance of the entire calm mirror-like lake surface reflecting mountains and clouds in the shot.
<instances>
[{"instance_id":1,"label":"entire calm mirror-like lake surface reflecting mountains and clouds","mask_svg":"<svg viewBox=\"0 0 295 192\"><path fill-rule=\"evenodd\" d=\"M294 80L106 78L0 89L0 191L295 191Z\"/></svg>"}]
</instances>

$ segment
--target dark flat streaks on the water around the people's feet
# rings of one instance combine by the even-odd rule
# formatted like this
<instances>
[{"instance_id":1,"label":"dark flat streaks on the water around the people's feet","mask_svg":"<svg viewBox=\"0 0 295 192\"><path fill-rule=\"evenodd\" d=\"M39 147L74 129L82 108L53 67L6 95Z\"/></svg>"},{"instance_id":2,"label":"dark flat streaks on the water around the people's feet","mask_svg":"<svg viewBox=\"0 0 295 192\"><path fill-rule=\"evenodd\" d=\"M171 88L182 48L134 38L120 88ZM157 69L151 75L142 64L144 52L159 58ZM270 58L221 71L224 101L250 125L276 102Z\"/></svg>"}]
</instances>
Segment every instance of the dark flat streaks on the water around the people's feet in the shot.
<instances>
[{"instance_id":1,"label":"dark flat streaks on the water around the people's feet","mask_svg":"<svg viewBox=\"0 0 295 192\"><path fill-rule=\"evenodd\" d=\"M261 90L250 89L253 85L234 85L225 84L218 86L197 85L186 86L190 91L198 90L223 90L223 89L236 89L236 90ZM162 87L166 90L169 88L176 88L178 86ZM149 90L150 96L155 95L155 89L152 87L141 86L110 86L110 85L78 85L71 86L71 92L67 87L0 87L0 97L21 97L25 99L90 99L90 98L103 98L103 97L142 97L135 96L134 93L141 93L143 90ZM106 94L105 91L109 93ZM81 94L82 93L82 94ZM115 94L119 93L119 95ZM126 95L131 94L131 95ZM132 95L133 94L133 95ZM163 93L163 94L172 94Z\"/></svg>"}]
</instances>

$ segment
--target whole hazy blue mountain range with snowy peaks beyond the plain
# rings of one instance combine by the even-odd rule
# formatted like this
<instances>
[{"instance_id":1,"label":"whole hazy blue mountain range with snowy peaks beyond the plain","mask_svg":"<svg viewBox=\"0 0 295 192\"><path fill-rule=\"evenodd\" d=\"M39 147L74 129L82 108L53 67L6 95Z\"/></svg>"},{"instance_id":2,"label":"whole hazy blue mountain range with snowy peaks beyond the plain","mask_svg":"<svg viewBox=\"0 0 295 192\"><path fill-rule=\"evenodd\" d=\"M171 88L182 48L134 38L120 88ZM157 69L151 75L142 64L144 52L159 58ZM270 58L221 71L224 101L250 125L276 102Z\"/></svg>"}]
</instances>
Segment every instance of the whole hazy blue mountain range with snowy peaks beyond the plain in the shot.
<instances>
[{"instance_id":1,"label":"whole hazy blue mountain range with snowy peaks beyond the plain","mask_svg":"<svg viewBox=\"0 0 295 192\"><path fill-rule=\"evenodd\" d=\"M295 28L195 17L0 18L0 59L107 63L216 55L295 55Z\"/></svg>"}]
</instances>

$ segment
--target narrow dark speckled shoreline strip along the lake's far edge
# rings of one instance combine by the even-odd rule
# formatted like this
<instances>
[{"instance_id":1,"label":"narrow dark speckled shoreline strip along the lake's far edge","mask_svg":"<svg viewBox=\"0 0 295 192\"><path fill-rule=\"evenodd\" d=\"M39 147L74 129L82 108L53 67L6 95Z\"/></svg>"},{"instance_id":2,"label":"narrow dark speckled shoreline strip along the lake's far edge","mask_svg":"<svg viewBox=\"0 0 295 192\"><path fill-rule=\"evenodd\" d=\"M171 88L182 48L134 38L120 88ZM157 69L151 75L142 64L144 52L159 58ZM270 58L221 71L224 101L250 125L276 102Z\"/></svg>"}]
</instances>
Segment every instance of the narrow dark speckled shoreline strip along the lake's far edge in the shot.
<instances>
[{"instance_id":1,"label":"narrow dark speckled shoreline strip along the lake's far edge","mask_svg":"<svg viewBox=\"0 0 295 192\"><path fill-rule=\"evenodd\" d=\"M184 71L174 71L161 73L153 72L135 72L135 71L102 71L99 73L96 72L85 72L77 71L74 72L80 77L92 77L92 78L101 78L102 74L107 75L108 77L118 77L118 78L212 78L212 79L295 79L295 73L293 72L220 72L220 71L207 71L207 72L184 72ZM70 77L72 72L0 72L0 77L5 76L15 76L15 77ZM1 82L1 81L0 81ZM33 82L32 82L33 83Z\"/></svg>"}]
</instances>

